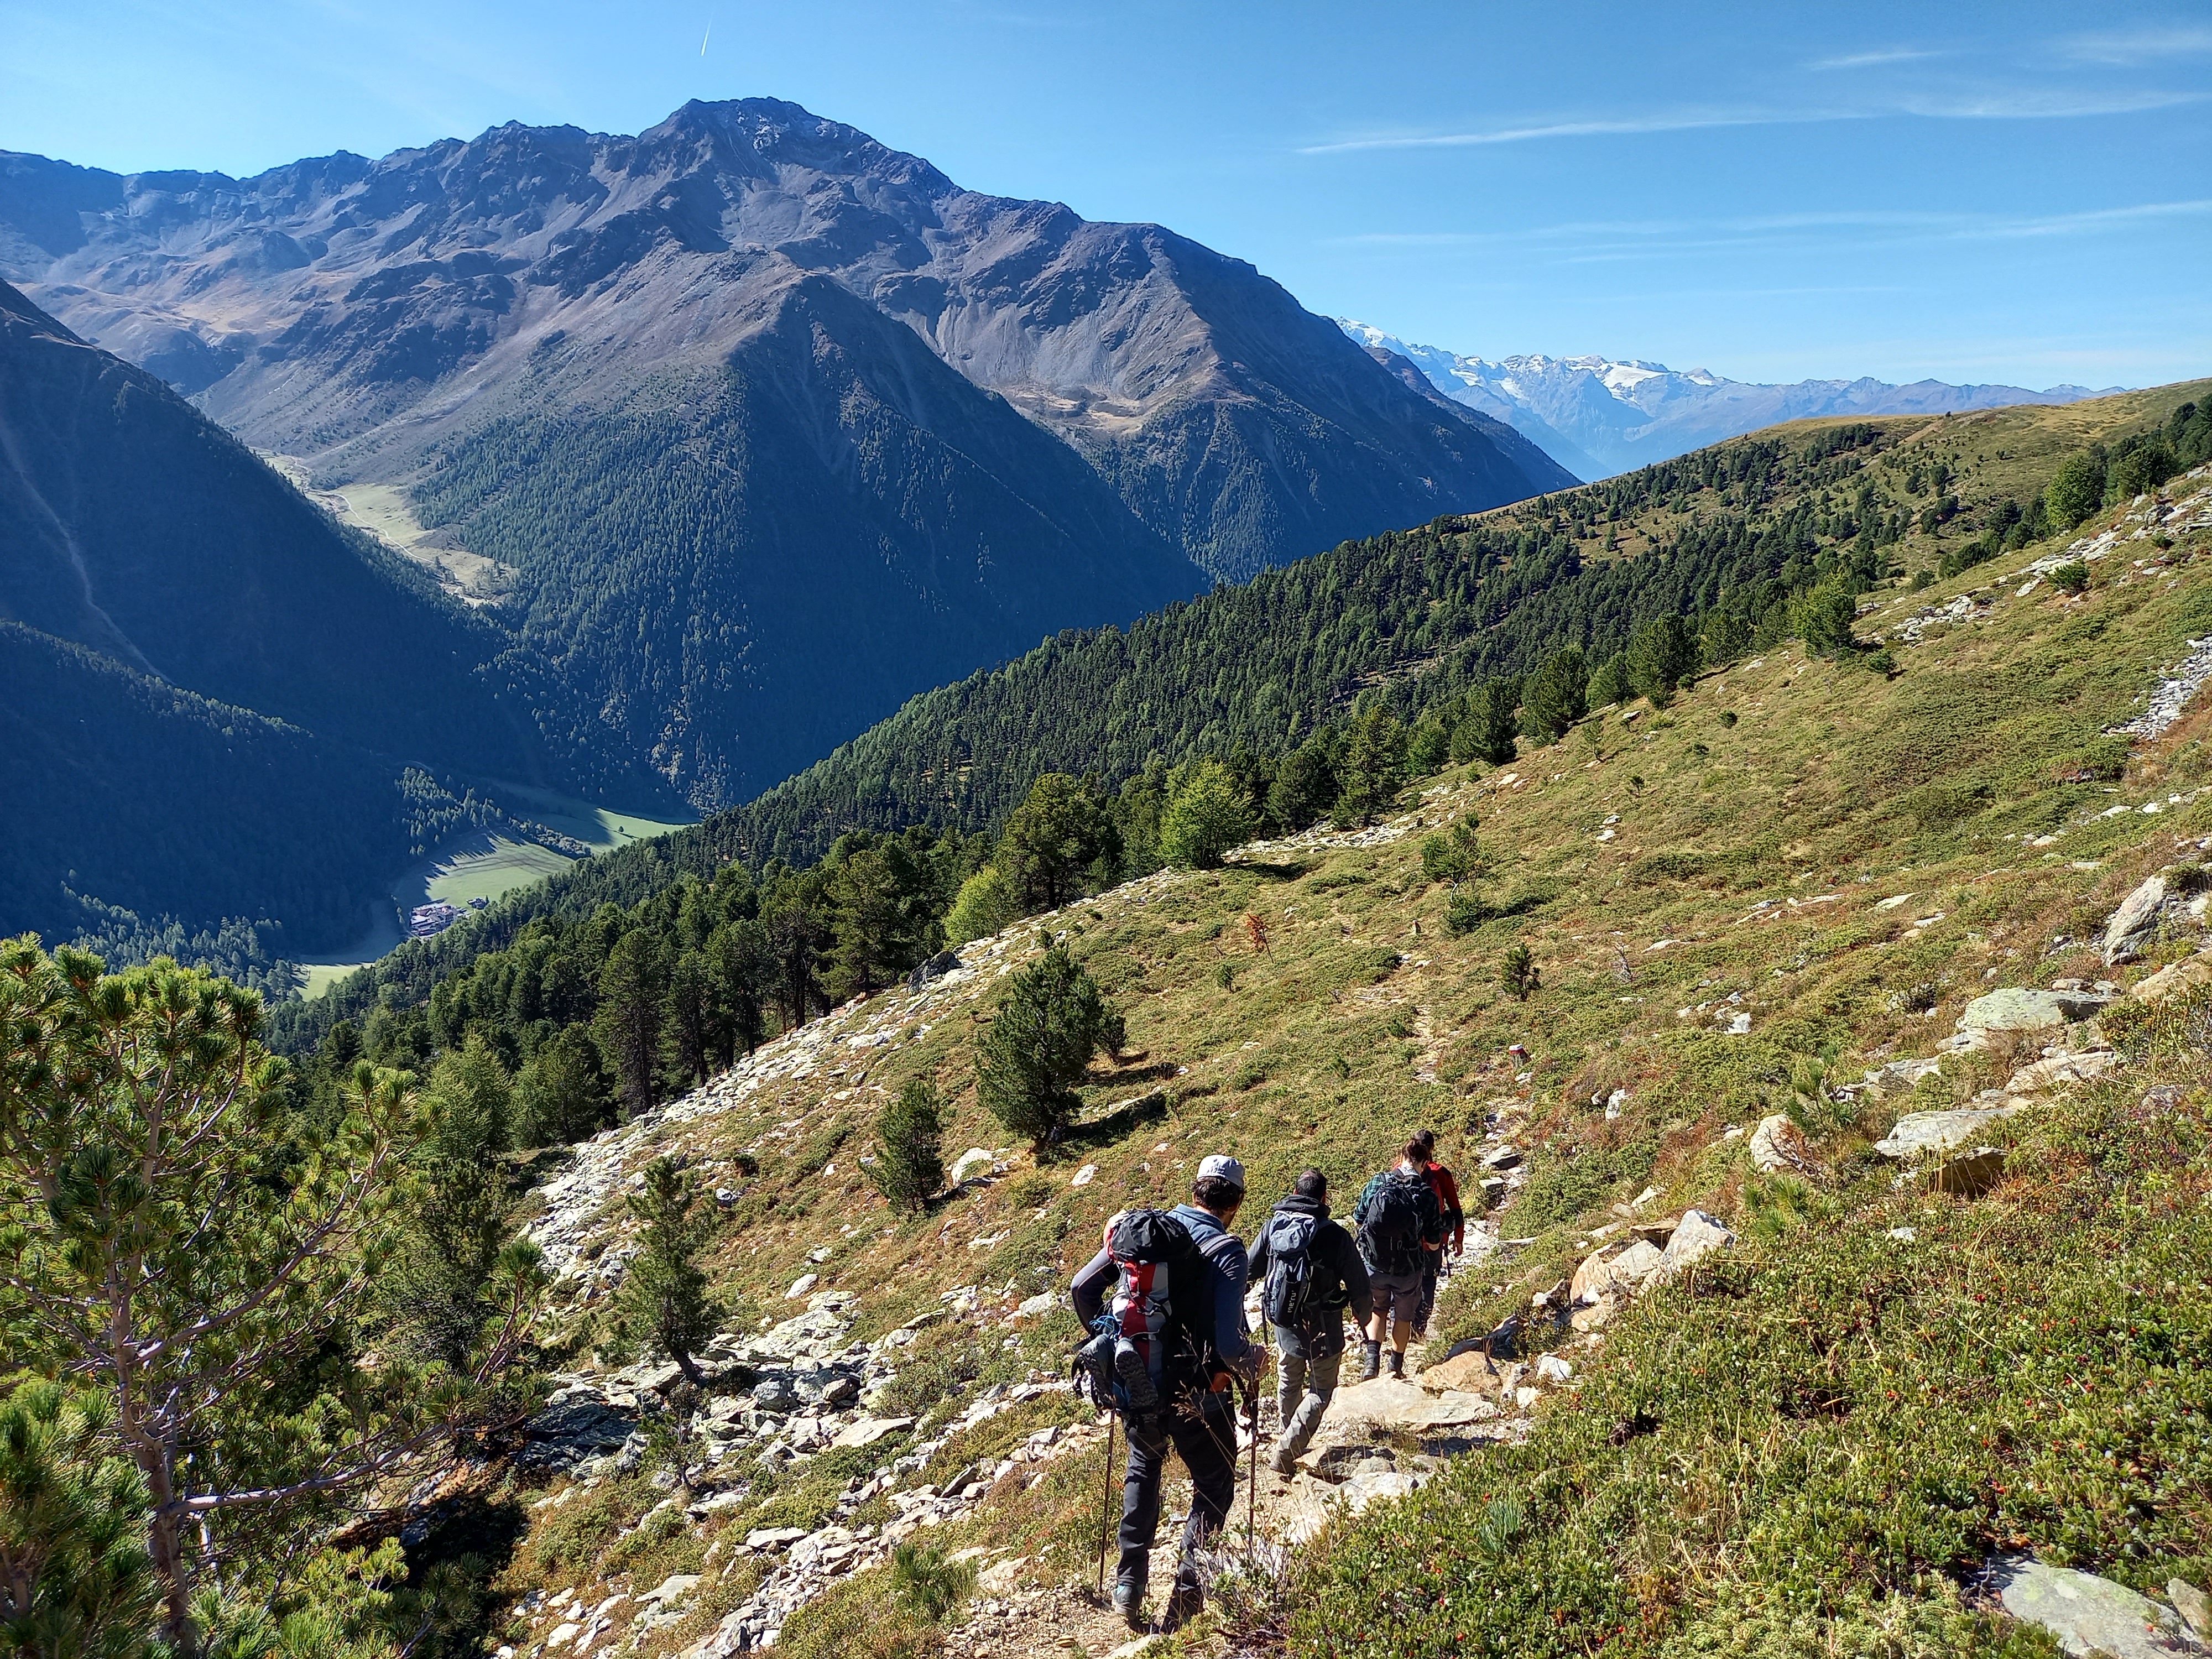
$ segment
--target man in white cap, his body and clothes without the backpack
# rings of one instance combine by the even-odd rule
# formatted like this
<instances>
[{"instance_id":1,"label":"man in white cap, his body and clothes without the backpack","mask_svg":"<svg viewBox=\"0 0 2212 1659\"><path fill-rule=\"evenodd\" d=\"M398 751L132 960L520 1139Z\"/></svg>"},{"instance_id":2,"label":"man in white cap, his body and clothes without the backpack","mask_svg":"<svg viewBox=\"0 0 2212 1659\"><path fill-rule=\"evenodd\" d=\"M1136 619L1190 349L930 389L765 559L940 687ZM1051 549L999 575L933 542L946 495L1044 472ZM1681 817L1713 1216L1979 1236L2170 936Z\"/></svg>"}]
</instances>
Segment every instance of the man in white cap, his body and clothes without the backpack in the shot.
<instances>
[{"instance_id":1,"label":"man in white cap, his body and clothes without the backpack","mask_svg":"<svg viewBox=\"0 0 2212 1659\"><path fill-rule=\"evenodd\" d=\"M1121 1566L1115 1573L1113 1604L1133 1630L1146 1628L1144 1593L1152 1540L1159 1535L1159 1480L1168 1447L1175 1447L1190 1471L1192 1495L1161 1630L1181 1628L1206 1606L1197 1551L1221 1531L1237 1502L1237 1407L1230 1380L1252 1387L1261 1367L1261 1349L1245 1340L1245 1248L1230 1232L1243 1192L1243 1164L1212 1155L1199 1161L1192 1201L1168 1212L1190 1234L1203 1263L1203 1283L1172 1287L1186 1318L1192 1305L1201 1310L1199 1329L1175 1329L1170 1312L1170 1340L1144 1336L1144 1301L1130 1296L1130 1272L1115 1263L1110 1250L1099 1250L1075 1274L1075 1318L1084 1329L1097 1329L1113 1294L1121 1327L1144 1336L1150 1383L1159 1394L1159 1409L1126 1413L1128 1473L1121 1478ZM1108 1241L1119 1219L1106 1225Z\"/></svg>"}]
</instances>

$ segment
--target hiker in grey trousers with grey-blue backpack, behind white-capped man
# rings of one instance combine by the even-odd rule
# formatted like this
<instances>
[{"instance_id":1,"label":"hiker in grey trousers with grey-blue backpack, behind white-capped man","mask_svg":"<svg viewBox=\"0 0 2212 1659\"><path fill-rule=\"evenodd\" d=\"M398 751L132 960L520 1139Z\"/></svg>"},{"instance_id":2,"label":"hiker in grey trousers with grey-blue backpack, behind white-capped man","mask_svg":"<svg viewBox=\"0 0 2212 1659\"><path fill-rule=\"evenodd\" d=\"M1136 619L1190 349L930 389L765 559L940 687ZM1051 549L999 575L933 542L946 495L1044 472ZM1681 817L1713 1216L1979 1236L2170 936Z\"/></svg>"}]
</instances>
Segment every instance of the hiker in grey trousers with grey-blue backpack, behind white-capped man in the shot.
<instances>
[{"instance_id":1,"label":"hiker in grey trousers with grey-blue backpack, behind white-capped man","mask_svg":"<svg viewBox=\"0 0 2212 1659\"><path fill-rule=\"evenodd\" d=\"M1329 1177L1303 1170L1252 1243L1261 1312L1274 1325L1276 1407L1283 1433L1270 1467L1292 1475L1314 1442L1345 1363L1345 1312L1367 1327L1367 1263L1352 1234L1329 1221Z\"/></svg>"}]
</instances>

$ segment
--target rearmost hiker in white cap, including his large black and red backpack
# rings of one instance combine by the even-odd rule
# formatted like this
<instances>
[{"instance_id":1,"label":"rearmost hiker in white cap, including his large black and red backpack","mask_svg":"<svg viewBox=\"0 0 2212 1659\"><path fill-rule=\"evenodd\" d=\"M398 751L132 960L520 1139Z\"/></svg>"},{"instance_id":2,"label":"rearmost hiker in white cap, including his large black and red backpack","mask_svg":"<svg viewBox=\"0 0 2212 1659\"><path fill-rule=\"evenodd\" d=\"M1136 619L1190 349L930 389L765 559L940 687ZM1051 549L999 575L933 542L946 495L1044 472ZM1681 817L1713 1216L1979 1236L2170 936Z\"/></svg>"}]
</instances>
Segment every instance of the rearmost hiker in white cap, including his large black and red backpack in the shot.
<instances>
[{"instance_id":1,"label":"rearmost hiker in white cap, including his large black and red backpack","mask_svg":"<svg viewBox=\"0 0 2212 1659\"><path fill-rule=\"evenodd\" d=\"M1075 1274L1075 1316L1099 1334L1102 1354L1110 1338L1102 1369L1128 1427L1113 1604L1133 1630L1148 1628L1144 1595L1168 1447L1190 1471L1192 1495L1161 1630L1181 1628L1206 1604L1197 1551L1221 1531L1237 1502L1230 1383L1250 1389L1261 1369L1261 1349L1245 1340L1245 1248L1230 1232L1243 1194L1243 1164L1214 1152L1199 1161L1190 1203L1124 1210L1106 1223L1104 1250Z\"/></svg>"}]
</instances>

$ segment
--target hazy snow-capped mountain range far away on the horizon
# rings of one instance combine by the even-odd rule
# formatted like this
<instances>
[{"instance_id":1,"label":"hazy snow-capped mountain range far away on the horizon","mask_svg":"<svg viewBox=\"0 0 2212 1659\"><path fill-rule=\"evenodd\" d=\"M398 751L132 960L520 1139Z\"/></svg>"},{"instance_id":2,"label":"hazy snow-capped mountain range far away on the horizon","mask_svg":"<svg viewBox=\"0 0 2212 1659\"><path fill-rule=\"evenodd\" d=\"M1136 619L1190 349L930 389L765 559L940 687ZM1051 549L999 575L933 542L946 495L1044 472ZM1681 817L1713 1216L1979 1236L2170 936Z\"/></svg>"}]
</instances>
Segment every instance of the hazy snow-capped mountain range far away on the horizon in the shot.
<instances>
[{"instance_id":1,"label":"hazy snow-capped mountain range far away on the horizon","mask_svg":"<svg viewBox=\"0 0 2212 1659\"><path fill-rule=\"evenodd\" d=\"M2079 403L2093 392L2055 385L1947 385L1942 380L1796 380L1756 385L1710 369L1601 356L1460 356L1438 345L1407 345L1369 323L1338 316L1336 325L1369 347L1405 358L1447 398L1504 420L1582 480L1672 460L1692 449L1781 420L1812 416L1944 414L2013 403Z\"/></svg>"}]
</instances>

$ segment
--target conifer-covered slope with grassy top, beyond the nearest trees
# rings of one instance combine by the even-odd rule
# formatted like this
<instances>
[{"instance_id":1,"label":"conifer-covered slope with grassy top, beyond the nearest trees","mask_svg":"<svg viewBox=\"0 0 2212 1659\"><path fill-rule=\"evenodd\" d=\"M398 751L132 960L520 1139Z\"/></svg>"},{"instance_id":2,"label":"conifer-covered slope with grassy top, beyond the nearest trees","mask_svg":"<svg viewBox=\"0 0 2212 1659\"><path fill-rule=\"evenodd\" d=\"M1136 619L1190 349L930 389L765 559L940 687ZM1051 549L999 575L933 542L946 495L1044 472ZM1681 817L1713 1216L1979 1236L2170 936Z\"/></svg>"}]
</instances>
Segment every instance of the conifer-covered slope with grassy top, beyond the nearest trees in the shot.
<instances>
[{"instance_id":1,"label":"conifer-covered slope with grassy top, beyond the nearest trees","mask_svg":"<svg viewBox=\"0 0 2212 1659\"><path fill-rule=\"evenodd\" d=\"M2163 422L2177 405L2205 396L2212 396L2212 380L2057 409L1798 420L1734 438L1710 453L1725 465L1745 447L1774 438L1798 447L1820 429L1874 425L1889 445L1882 462L1836 482L1827 489L1829 502L1840 509L1871 480L1887 502L1913 511L1936 502L1927 482L1918 495L1907 491L1913 462L1944 460L1955 473L1949 493L1960 513L1940 533L1913 529L1891 549L1893 562L1911 573L1933 568L1949 546L1971 538L1997 500L2026 500L2042 489L2073 449ZM1400 712L1411 714L1429 699L1449 697L1458 677L1522 672L1542 650L1566 639L1588 641L1593 628L1624 639L1624 624L1650 611L1712 602L1717 593L1674 593L1666 571L1655 571L1639 593L1608 588L1604 602L1593 602L1588 591L1606 586L1593 575L1551 593L1520 595L1517 608L1528 617L1515 619L1526 626L1511 637L1495 626L1500 617L1469 608L1467 597L1478 588L1464 588L1460 604L1436 604L1451 577L1471 564L1467 526L1502 535L1546 524L1573 531L1577 553L1595 566L1615 557L1606 553L1608 535L1617 540L1617 557L1630 557L1672 538L1683 518L1712 524L1747 511L1734 491L1701 489L1683 495L1679 511L1672 500L1646 500L1608 520L1608 500L1648 495L1639 480L1644 476L1632 473L1469 520L1447 518L1402 535L1347 542L1250 586L1146 617L1126 635L1113 628L1060 635L1002 668L916 697L734 812L650 847L577 865L509 894L484 918L403 947L389 962L341 984L319 1020L358 1018L385 989L427 998L440 973L509 945L540 914L588 916L608 900L630 905L684 872L712 874L732 856L807 863L854 825L898 830L931 821L995 830L1044 770L1097 768L1117 783L1155 752L1170 763L1237 741L1274 752L1290 741L1294 719L1312 728L1343 712L1367 686L1387 686ZM1805 493L1818 498L1820 489ZM1798 495L1781 491L1750 509L1752 529L1774 524ZM1517 593L1511 573L1504 591ZM1387 626L1374 626L1376 615L1387 617ZM1444 672L1422 672L1440 661ZM312 1042L321 1029L303 1024L299 1035Z\"/></svg>"}]
</instances>

